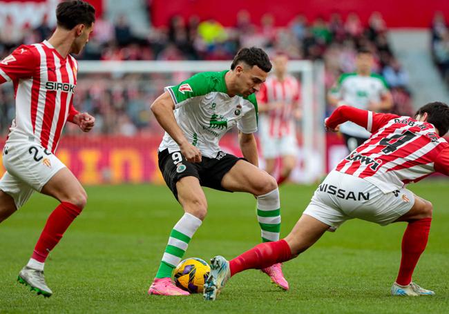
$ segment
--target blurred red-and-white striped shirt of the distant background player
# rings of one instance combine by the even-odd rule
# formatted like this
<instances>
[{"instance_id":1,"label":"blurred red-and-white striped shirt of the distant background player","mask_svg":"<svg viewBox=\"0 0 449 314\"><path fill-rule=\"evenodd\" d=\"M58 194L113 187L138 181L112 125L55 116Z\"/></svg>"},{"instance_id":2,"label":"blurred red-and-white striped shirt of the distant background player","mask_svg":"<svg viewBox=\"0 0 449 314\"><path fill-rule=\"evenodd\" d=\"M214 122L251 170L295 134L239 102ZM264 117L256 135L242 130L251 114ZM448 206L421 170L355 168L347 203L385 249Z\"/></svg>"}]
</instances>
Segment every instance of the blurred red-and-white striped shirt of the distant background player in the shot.
<instances>
[{"instance_id":1,"label":"blurred red-and-white striped shirt of the distant background player","mask_svg":"<svg viewBox=\"0 0 449 314\"><path fill-rule=\"evenodd\" d=\"M266 128L270 137L295 134L294 106L300 98L298 80L287 75L279 81L276 75L267 78L260 86L257 101L260 104L279 103L283 106L260 114L260 128Z\"/></svg>"}]
</instances>

